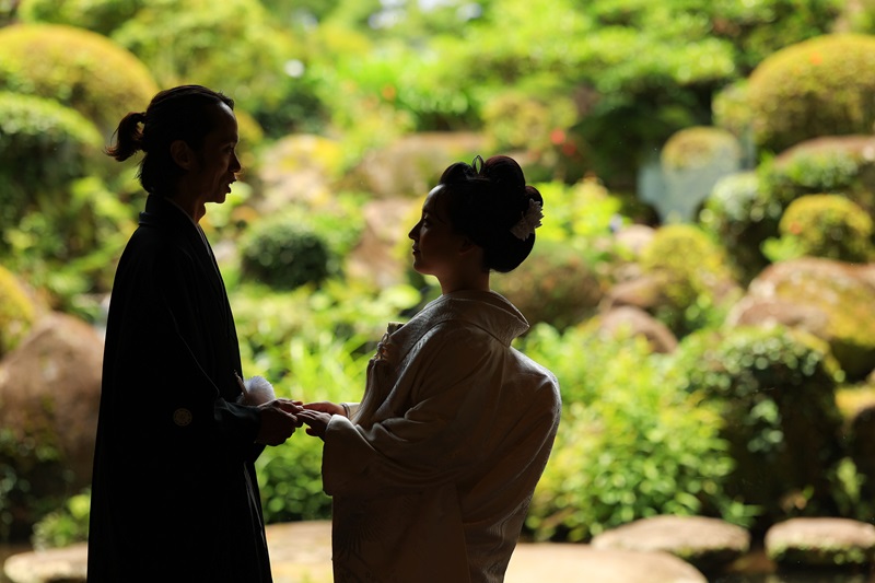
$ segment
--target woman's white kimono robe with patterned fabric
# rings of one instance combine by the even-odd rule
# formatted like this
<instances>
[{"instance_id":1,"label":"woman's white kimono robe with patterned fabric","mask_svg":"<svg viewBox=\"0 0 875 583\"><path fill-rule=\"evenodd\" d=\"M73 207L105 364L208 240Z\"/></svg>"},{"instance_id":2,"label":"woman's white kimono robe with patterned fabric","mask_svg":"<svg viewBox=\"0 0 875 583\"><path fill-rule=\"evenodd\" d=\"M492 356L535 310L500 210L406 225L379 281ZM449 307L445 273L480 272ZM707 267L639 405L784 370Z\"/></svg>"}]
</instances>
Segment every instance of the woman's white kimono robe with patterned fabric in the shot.
<instances>
[{"instance_id":1,"label":"woman's white kimono robe with patterned fabric","mask_svg":"<svg viewBox=\"0 0 875 583\"><path fill-rule=\"evenodd\" d=\"M559 425L556 377L494 292L442 295L384 337L323 479L342 582L501 582Z\"/></svg>"}]
</instances>

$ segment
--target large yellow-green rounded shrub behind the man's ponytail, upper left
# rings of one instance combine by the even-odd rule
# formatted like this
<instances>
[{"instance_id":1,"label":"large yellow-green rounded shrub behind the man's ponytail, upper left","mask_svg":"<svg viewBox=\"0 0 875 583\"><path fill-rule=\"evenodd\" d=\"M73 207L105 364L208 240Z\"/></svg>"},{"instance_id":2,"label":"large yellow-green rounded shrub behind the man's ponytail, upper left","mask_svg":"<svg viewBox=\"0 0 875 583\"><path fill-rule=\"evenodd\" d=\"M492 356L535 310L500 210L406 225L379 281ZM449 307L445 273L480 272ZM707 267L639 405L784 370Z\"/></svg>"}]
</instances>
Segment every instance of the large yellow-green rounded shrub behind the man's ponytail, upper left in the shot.
<instances>
[{"instance_id":1,"label":"large yellow-green rounded shrub behind the man's ponytail, upper left","mask_svg":"<svg viewBox=\"0 0 875 583\"><path fill-rule=\"evenodd\" d=\"M100 34L54 24L0 30L0 88L52 98L94 123L108 139L158 85L137 57Z\"/></svg>"}]
</instances>

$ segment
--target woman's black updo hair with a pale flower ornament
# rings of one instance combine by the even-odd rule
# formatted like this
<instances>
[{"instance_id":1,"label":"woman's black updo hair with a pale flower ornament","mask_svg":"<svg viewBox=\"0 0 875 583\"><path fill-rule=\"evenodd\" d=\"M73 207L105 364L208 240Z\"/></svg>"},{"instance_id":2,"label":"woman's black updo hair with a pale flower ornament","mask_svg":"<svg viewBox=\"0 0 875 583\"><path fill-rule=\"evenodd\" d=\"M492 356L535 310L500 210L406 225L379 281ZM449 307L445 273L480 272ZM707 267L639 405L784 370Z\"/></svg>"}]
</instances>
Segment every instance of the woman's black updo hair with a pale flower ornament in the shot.
<instances>
[{"instance_id":1,"label":"woman's black updo hair with a pale flower ornament","mask_svg":"<svg viewBox=\"0 0 875 583\"><path fill-rule=\"evenodd\" d=\"M540 223L529 222L523 231L518 226L532 218L534 205L539 219L544 198L526 185L515 160L497 155L486 162L480 156L472 164L457 162L444 171L440 184L453 230L482 247L486 269L506 273L528 257Z\"/></svg>"}]
</instances>

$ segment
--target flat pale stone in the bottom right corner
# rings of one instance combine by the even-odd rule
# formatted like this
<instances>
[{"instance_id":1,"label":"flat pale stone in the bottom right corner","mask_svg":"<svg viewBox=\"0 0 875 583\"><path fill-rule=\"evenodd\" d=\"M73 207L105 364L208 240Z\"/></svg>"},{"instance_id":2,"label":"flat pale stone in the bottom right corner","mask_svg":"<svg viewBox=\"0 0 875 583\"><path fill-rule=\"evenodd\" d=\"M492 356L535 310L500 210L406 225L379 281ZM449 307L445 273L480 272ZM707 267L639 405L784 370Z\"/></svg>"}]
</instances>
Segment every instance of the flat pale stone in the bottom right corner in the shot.
<instances>
[{"instance_id":1,"label":"flat pale stone in the bottom right corner","mask_svg":"<svg viewBox=\"0 0 875 583\"><path fill-rule=\"evenodd\" d=\"M875 562L875 526L850 518L790 518L766 533L766 552L779 565L849 567Z\"/></svg>"}]
</instances>

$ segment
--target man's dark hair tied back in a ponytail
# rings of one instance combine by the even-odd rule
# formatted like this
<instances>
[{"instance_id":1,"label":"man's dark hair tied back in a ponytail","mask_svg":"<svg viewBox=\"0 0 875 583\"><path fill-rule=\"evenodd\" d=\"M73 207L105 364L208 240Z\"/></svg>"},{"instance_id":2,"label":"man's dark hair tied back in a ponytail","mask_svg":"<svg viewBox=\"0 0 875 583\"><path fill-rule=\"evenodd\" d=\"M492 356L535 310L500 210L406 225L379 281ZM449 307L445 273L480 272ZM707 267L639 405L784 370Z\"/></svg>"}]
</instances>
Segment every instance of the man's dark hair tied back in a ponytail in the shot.
<instances>
[{"instance_id":1,"label":"man's dark hair tied back in a ponytail","mask_svg":"<svg viewBox=\"0 0 875 583\"><path fill-rule=\"evenodd\" d=\"M145 155L137 173L140 184L149 194L170 195L185 174L171 155L171 144L183 140L199 151L218 124L215 107L221 104L234 109L234 100L201 85L162 91L145 112L132 112L121 119L116 143L106 149L106 154L121 162L142 150Z\"/></svg>"}]
</instances>

